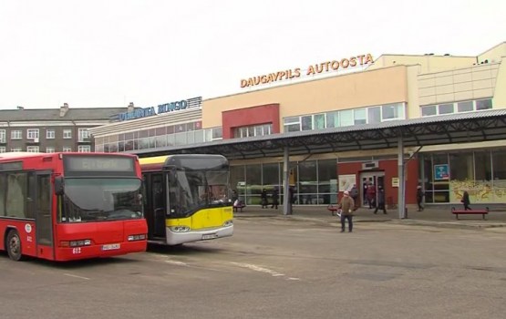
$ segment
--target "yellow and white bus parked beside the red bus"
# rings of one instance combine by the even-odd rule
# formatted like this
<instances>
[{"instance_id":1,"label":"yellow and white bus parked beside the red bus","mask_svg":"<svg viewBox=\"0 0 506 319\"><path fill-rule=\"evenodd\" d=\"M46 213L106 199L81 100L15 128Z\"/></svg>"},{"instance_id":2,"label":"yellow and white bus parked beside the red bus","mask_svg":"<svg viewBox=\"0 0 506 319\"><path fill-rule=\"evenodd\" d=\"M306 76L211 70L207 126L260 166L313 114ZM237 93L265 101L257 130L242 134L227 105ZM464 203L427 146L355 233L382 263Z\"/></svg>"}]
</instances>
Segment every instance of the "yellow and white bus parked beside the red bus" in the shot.
<instances>
[{"instance_id":1,"label":"yellow and white bus parked beside the red bus","mask_svg":"<svg viewBox=\"0 0 506 319\"><path fill-rule=\"evenodd\" d=\"M168 245L232 236L229 163L222 155L139 159L148 240Z\"/></svg>"}]
</instances>

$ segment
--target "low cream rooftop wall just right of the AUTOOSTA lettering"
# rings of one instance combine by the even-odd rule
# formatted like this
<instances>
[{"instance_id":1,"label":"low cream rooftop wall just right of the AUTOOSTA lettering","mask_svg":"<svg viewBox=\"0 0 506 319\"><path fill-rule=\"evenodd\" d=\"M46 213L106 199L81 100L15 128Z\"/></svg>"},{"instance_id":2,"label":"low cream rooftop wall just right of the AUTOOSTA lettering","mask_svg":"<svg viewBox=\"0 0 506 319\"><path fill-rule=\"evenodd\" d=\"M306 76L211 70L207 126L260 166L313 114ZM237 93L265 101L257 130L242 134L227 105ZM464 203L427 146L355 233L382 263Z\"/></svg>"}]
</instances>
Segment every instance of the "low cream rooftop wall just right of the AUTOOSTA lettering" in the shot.
<instances>
[{"instance_id":1,"label":"low cream rooftop wall just right of the AUTOOSTA lettering","mask_svg":"<svg viewBox=\"0 0 506 319\"><path fill-rule=\"evenodd\" d=\"M374 64L367 67L367 69L398 65L418 65L418 73L425 74L470 67L476 64L476 62L476 57L383 55L378 57Z\"/></svg>"}]
</instances>

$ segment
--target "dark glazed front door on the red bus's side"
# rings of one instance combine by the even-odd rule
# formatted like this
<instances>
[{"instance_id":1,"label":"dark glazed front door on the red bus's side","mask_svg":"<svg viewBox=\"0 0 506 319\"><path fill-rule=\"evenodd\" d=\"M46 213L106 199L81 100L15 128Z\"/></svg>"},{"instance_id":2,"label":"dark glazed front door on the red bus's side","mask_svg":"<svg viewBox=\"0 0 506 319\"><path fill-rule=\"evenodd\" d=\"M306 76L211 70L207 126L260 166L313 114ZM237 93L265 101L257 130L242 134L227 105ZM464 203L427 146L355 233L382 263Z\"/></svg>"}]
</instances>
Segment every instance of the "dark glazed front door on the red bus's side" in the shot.
<instances>
[{"instance_id":1,"label":"dark glazed front door on the red bus's side","mask_svg":"<svg viewBox=\"0 0 506 319\"><path fill-rule=\"evenodd\" d=\"M32 201L36 218L36 254L39 257L54 259L51 172L35 172L35 183L32 187L31 193L35 195ZM39 246L45 246L46 248Z\"/></svg>"}]
</instances>

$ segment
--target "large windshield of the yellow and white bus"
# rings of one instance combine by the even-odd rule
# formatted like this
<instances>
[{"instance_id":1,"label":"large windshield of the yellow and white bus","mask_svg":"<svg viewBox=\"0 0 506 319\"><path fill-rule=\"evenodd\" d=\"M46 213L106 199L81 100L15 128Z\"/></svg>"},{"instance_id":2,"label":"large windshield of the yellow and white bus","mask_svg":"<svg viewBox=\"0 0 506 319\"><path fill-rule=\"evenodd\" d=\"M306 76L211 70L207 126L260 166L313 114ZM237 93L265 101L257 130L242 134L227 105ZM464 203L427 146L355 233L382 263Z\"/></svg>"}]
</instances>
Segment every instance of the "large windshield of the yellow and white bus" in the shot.
<instances>
[{"instance_id":1,"label":"large windshield of the yellow and white bus","mask_svg":"<svg viewBox=\"0 0 506 319\"><path fill-rule=\"evenodd\" d=\"M230 205L228 170L178 170L170 180L170 216L188 216L212 206Z\"/></svg>"}]
</instances>

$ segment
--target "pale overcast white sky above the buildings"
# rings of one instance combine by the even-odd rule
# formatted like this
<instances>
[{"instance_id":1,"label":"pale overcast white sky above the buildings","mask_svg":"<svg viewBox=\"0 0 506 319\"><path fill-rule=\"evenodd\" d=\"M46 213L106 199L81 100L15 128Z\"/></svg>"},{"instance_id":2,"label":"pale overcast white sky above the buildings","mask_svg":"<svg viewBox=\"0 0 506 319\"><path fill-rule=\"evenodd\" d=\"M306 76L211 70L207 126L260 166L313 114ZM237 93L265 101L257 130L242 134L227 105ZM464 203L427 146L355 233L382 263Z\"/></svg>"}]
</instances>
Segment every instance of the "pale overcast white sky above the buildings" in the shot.
<instances>
[{"instance_id":1,"label":"pale overcast white sky above the buildings","mask_svg":"<svg viewBox=\"0 0 506 319\"><path fill-rule=\"evenodd\" d=\"M477 56L506 41L504 12L499 0L0 0L0 109L147 108L344 57Z\"/></svg>"}]
</instances>

